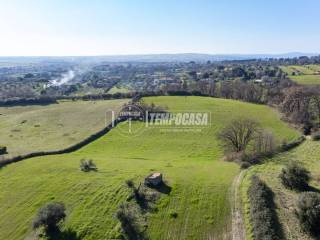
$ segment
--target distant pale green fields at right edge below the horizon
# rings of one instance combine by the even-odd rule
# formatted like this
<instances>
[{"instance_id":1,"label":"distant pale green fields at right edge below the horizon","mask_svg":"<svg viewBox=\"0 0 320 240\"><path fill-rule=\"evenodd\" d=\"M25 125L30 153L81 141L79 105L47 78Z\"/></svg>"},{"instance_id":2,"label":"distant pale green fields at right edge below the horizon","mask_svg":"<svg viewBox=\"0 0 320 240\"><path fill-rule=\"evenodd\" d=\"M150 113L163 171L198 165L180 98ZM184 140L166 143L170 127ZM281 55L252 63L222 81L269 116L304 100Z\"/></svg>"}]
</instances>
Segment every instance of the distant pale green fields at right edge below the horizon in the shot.
<instances>
[{"instance_id":1,"label":"distant pale green fields at right edge below the horizon","mask_svg":"<svg viewBox=\"0 0 320 240\"><path fill-rule=\"evenodd\" d=\"M282 66L290 79L301 85L320 84L320 65Z\"/></svg>"}]
</instances>

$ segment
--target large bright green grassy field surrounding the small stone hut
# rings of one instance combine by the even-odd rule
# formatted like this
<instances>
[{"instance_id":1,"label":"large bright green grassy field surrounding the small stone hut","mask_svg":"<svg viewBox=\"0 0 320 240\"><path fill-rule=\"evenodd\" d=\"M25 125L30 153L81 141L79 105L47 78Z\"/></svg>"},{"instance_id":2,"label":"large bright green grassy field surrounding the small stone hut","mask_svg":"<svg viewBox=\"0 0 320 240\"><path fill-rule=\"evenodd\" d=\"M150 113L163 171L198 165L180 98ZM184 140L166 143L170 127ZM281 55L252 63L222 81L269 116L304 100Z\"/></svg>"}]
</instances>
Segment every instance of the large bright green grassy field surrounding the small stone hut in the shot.
<instances>
[{"instance_id":1,"label":"large bright green grassy field surrounding the small stone hut","mask_svg":"<svg viewBox=\"0 0 320 240\"><path fill-rule=\"evenodd\" d=\"M160 171L172 187L161 197L158 212L148 217L151 239L230 239L230 186L239 173L235 163L221 160L215 138L219 129L241 116L261 119L279 139L299 134L279 120L267 106L204 97L152 97L147 102L170 110L210 111L212 124L201 132L161 132L148 128L138 136L117 131L79 151L29 159L0 170L0 239L33 239L31 222L37 209L49 201L63 201L68 217L65 228L81 239L112 239L119 226L114 218L128 190ZM140 127L142 123L134 123ZM98 172L79 170L81 158L91 158ZM176 219L170 212L177 212Z\"/></svg>"}]
</instances>

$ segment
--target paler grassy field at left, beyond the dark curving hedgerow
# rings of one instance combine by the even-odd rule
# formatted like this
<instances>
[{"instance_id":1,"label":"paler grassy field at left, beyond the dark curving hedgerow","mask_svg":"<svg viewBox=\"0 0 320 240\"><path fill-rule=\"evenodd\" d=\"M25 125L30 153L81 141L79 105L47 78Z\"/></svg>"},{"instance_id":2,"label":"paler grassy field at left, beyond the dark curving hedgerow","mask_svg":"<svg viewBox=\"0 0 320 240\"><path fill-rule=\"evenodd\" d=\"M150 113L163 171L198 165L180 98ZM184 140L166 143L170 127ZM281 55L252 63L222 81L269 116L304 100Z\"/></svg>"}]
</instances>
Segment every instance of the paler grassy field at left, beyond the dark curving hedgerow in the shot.
<instances>
[{"instance_id":1,"label":"paler grassy field at left, beyond the dark curving hedgerow","mask_svg":"<svg viewBox=\"0 0 320 240\"><path fill-rule=\"evenodd\" d=\"M65 101L48 106L0 107L0 145L8 147L7 157L65 148L102 129L106 120L111 121L106 119L106 111L117 110L126 101Z\"/></svg>"}]
</instances>

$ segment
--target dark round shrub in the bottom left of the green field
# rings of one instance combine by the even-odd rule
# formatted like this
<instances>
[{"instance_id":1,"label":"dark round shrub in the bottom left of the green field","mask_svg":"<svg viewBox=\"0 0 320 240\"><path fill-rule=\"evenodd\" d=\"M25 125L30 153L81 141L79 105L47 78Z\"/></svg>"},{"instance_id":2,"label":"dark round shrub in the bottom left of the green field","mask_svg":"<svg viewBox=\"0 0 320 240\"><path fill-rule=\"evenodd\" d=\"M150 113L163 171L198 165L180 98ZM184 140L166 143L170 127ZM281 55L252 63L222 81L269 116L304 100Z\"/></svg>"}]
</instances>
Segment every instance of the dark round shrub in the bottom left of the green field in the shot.
<instances>
[{"instance_id":1,"label":"dark round shrub in the bottom left of the green field","mask_svg":"<svg viewBox=\"0 0 320 240\"><path fill-rule=\"evenodd\" d=\"M43 227L46 232L58 228L58 224L66 217L63 203L49 203L39 209L37 216L33 220L33 229Z\"/></svg>"}]
</instances>

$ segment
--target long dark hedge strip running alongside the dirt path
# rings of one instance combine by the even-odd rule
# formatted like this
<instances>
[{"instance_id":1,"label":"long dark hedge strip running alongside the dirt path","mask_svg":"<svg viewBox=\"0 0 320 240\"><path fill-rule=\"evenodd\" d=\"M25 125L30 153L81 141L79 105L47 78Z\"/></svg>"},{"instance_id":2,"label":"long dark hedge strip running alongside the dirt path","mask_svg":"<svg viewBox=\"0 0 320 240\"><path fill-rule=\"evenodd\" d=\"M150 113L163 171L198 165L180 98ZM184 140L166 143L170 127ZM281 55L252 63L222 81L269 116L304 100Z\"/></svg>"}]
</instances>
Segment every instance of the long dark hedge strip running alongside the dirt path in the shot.
<instances>
[{"instance_id":1,"label":"long dark hedge strip running alongside the dirt path","mask_svg":"<svg viewBox=\"0 0 320 240\"><path fill-rule=\"evenodd\" d=\"M259 177L253 176L248 189L248 196L254 239L283 239L281 229L279 229L271 189Z\"/></svg>"}]
</instances>

